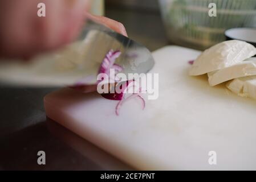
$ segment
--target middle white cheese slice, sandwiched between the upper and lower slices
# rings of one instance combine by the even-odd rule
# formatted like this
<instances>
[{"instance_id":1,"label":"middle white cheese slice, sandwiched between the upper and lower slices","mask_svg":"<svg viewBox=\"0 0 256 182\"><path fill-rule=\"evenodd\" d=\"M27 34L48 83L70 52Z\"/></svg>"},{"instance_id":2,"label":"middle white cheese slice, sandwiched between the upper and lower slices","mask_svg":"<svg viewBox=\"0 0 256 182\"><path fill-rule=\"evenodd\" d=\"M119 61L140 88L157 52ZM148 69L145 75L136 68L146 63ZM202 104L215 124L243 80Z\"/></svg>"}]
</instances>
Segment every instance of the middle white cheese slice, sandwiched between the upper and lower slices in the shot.
<instances>
[{"instance_id":1,"label":"middle white cheese slice, sandwiched between the upper and lower slices","mask_svg":"<svg viewBox=\"0 0 256 182\"><path fill-rule=\"evenodd\" d=\"M208 81L210 86L214 86L234 78L253 75L256 75L256 57L251 57L241 63L208 73Z\"/></svg>"}]
</instances>

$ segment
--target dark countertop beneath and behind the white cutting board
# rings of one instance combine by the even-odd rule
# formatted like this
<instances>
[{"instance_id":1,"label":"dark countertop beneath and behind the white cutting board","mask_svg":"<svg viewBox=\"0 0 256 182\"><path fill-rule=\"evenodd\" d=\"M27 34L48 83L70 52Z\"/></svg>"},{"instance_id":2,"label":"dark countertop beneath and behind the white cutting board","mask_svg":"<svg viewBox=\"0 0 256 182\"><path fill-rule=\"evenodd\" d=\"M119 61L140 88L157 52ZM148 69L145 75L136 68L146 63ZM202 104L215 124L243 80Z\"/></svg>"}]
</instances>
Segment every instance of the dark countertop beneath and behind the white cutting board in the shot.
<instances>
[{"instance_id":1,"label":"dark countertop beneath and behind the white cutting board","mask_svg":"<svg viewBox=\"0 0 256 182\"><path fill-rule=\"evenodd\" d=\"M154 51L167 44L160 14L108 9L130 38ZM98 170L133 169L90 142L46 118L43 97L58 88L0 87L0 169ZM46 152L46 165L37 152Z\"/></svg>"}]
</instances>

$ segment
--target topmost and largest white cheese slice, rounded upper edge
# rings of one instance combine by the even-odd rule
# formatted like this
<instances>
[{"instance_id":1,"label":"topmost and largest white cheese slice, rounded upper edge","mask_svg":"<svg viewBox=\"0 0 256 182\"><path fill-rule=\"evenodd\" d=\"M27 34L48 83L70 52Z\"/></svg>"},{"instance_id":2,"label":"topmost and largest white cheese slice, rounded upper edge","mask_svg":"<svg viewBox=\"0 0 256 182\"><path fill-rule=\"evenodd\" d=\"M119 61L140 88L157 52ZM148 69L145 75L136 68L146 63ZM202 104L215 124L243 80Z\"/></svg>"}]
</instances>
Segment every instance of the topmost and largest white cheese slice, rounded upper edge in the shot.
<instances>
[{"instance_id":1,"label":"topmost and largest white cheese slice, rounded upper edge","mask_svg":"<svg viewBox=\"0 0 256 182\"><path fill-rule=\"evenodd\" d=\"M189 75L203 75L230 67L256 55L256 48L241 40L228 40L206 49L194 61Z\"/></svg>"}]
</instances>

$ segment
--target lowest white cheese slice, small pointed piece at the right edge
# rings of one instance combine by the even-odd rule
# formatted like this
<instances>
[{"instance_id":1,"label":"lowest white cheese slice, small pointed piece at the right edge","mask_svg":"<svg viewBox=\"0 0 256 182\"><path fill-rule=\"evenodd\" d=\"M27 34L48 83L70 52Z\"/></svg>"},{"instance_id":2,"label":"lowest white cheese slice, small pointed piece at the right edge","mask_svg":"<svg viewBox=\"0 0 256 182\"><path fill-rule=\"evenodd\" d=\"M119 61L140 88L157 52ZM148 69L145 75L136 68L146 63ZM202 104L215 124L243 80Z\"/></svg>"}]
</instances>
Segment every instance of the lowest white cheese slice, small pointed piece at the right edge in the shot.
<instances>
[{"instance_id":1,"label":"lowest white cheese slice, small pointed piece at the right edge","mask_svg":"<svg viewBox=\"0 0 256 182\"><path fill-rule=\"evenodd\" d=\"M256 76L235 78L227 82L226 86L238 96L256 99Z\"/></svg>"}]
</instances>

